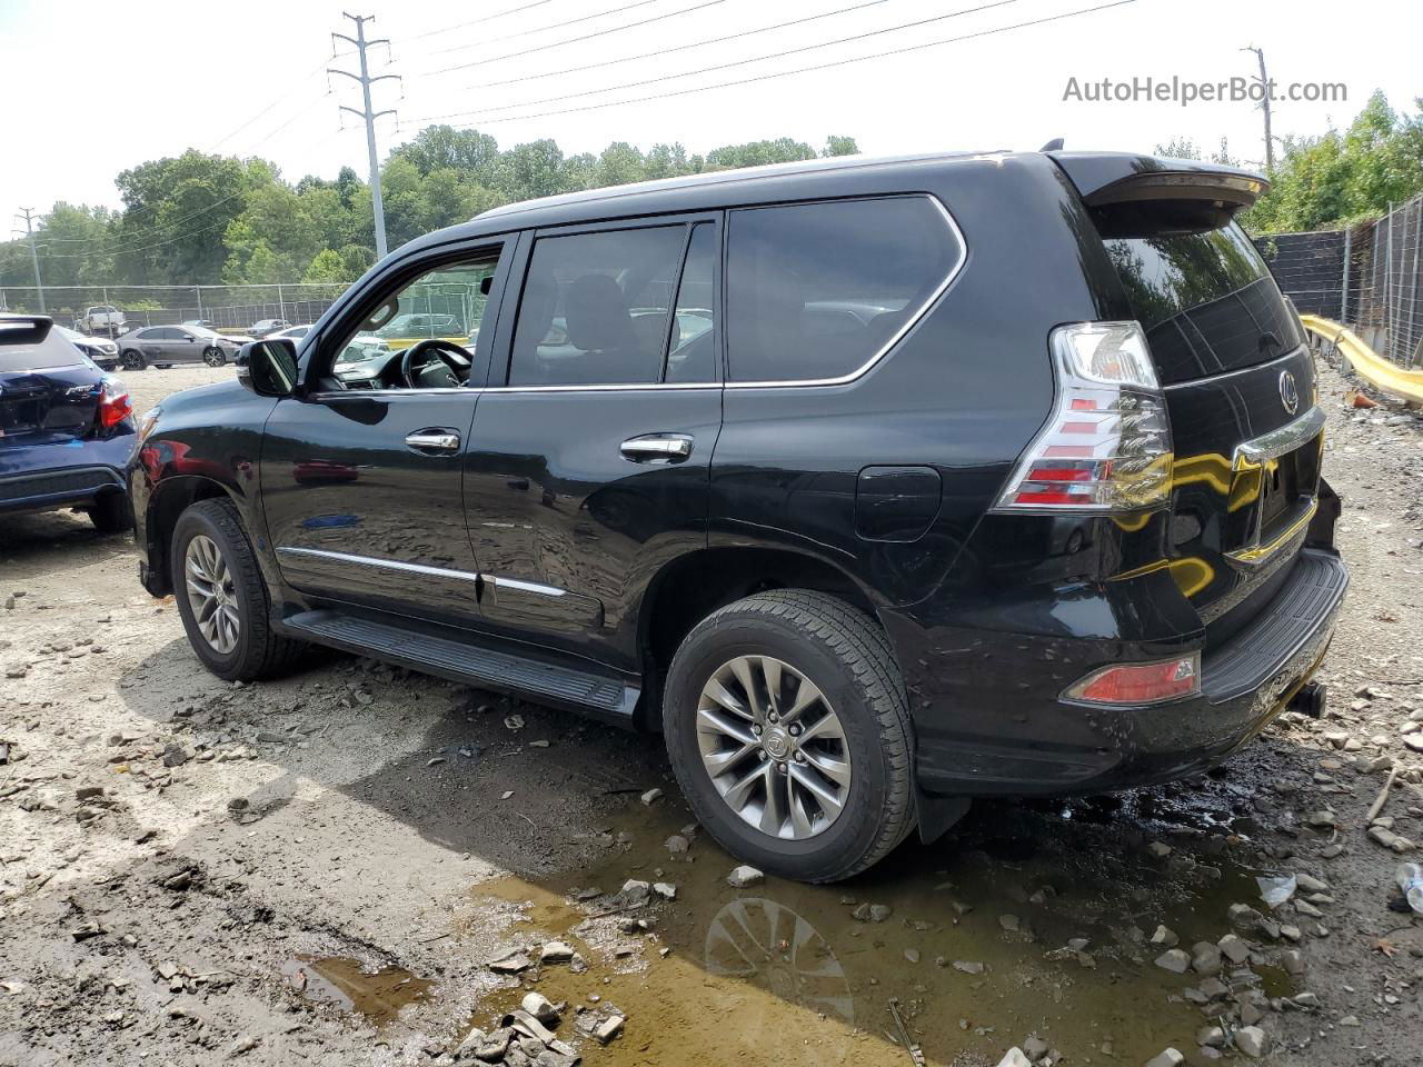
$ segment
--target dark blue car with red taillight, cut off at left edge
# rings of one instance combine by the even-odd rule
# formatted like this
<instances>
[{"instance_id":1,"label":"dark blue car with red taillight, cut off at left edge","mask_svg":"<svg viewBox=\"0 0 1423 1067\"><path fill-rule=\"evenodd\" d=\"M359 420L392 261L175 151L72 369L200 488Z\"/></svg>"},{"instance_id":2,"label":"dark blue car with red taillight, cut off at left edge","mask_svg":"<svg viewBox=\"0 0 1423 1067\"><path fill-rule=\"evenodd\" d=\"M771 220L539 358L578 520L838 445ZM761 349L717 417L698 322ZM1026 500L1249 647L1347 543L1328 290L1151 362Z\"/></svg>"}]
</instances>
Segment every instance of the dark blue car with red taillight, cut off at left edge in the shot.
<instances>
[{"instance_id":1,"label":"dark blue car with red taillight, cut off at left edge","mask_svg":"<svg viewBox=\"0 0 1423 1067\"><path fill-rule=\"evenodd\" d=\"M138 441L124 384L40 314L0 314L0 516L78 508L132 526L124 468Z\"/></svg>"}]
</instances>

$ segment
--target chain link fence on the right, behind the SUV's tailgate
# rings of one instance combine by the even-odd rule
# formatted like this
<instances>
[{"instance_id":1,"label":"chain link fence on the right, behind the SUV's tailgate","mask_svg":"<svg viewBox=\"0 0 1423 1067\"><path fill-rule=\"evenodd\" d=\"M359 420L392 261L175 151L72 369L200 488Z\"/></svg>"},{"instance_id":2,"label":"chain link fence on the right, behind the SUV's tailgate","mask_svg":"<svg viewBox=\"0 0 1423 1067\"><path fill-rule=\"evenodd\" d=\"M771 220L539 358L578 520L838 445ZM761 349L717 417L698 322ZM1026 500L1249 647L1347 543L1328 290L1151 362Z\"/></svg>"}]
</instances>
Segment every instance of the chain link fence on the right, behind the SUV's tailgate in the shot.
<instances>
[{"instance_id":1,"label":"chain link fence on the right, behind the SUV's tailgate","mask_svg":"<svg viewBox=\"0 0 1423 1067\"><path fill-rule=\"evenodd\" d=\"M1302 313L1345 323L1403 367L1423 366L1423 196L1358 226L1255 245Z\"/></svg>"}]
</instances>

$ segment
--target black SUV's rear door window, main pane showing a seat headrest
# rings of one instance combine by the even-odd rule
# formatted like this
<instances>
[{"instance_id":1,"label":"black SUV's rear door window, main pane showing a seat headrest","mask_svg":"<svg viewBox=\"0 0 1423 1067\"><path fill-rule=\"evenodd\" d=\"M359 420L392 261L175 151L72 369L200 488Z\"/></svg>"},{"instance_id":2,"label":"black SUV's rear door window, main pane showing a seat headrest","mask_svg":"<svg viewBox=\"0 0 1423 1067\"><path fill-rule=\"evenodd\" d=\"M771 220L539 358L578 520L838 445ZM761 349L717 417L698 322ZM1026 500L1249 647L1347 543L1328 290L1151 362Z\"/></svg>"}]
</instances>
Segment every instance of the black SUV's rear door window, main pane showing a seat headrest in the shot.
<instances>
[{"instance_id":1,"label":"black SUV's rear door window, main pane showing a seat headrest","mask_svg":"<svg viewBox=\"0 0 1423 1067\"><path fill-rule=\"evenodd\" d=\"M539 238L529 256L511 386L662 378L687 228Z\"/></svg>"}]
</instances>

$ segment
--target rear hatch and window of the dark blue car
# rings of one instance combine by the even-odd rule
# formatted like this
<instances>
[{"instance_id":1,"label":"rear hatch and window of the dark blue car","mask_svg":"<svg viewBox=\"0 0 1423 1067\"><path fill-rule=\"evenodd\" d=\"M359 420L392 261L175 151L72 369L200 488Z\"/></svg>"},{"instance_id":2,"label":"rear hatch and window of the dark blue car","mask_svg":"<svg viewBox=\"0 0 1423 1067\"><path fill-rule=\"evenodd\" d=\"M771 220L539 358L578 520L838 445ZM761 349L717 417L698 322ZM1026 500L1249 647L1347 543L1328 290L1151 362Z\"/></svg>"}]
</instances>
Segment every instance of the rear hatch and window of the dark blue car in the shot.
<instances>
[{"instance_id":1,"label":"rear hatch and window of the dark blue car","mask_svg":"<svg viewBox=\"0 0 1423 1067\"><path fill-rule=\"evenodd\" d=\"M58 331L36 340L0 320L0 452L65 444L98 428L104 376ZM3 465L0 465L3 467Z\"/></svg>"}]
</instances>

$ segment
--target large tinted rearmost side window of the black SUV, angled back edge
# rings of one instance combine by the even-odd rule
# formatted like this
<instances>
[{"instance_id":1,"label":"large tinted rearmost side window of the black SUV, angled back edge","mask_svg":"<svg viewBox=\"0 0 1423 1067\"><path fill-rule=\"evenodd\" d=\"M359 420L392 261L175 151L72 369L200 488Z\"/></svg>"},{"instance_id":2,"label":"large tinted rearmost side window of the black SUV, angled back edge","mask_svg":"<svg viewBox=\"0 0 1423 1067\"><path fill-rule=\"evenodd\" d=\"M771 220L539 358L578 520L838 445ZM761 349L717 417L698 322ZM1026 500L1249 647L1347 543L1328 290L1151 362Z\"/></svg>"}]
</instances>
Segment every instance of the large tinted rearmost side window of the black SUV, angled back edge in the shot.
<instances>
[{"instance_id":1,"label":"large tinted rearmost side window of the black SUV, angled back edge","mask_svg":"<svg viewBox=\"0 0 1423 1067\"><path fill-rule=\"evenodd\" d=\"M962 258L926 196L748 208L729 219L733 381L854 374L919 316Z\"/></svg>"}]
</instances>

